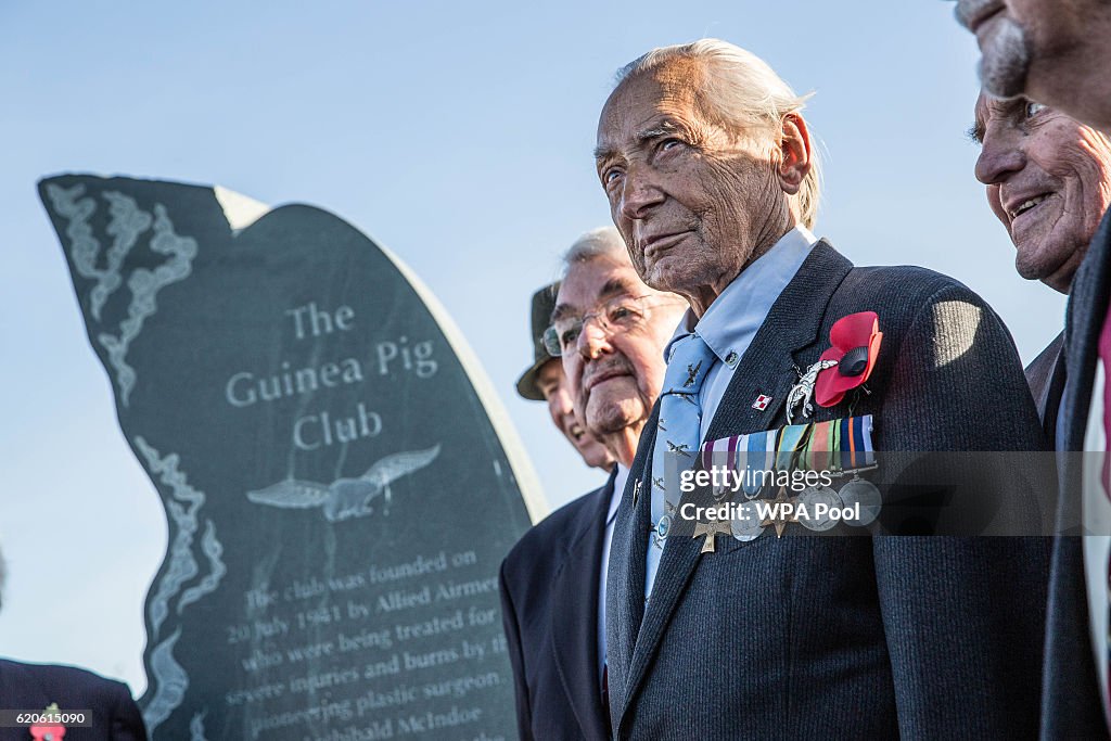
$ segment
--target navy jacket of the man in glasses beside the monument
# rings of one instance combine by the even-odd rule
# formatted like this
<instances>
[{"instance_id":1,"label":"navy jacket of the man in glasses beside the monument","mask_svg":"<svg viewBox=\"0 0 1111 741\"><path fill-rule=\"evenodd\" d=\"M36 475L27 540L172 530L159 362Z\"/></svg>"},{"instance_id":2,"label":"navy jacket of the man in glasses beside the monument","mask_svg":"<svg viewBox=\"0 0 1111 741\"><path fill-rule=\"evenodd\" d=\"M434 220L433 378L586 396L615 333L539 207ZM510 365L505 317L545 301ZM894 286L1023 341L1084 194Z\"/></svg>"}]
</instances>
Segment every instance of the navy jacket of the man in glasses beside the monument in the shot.
<instances>
[{"instance_id":1,"label":"navy jacket of the man in glasses beside the monument","mask_svg":"<svg viewBox=\"0 0 1111 741\"><path fill-rule=\"evenodd\" d=\"M613 479L524 533L501 564L522 739L609 738L598 655L598 587Z\"/></svg>"}]
</instances>

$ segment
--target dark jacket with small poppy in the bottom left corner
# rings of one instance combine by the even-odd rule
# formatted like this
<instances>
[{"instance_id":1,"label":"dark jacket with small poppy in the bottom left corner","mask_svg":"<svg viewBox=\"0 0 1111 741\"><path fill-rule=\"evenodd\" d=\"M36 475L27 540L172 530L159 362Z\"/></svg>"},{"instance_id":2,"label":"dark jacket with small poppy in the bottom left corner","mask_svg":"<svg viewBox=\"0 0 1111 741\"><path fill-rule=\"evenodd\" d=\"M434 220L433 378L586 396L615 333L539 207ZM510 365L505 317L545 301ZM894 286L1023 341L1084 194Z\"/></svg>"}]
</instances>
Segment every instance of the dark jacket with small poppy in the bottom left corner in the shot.
<instances>
[{"instance_id":1,"label":"dark jacket with small poppy in the bottom left corner","mask_svg":"<svg viewBox=\"0 0 1111 741\"><path fill-rule=\"evenodd\" d=\"M26 664L0 659L0 709L92 711L91 728L66 728L66 741L146 741L139 707L128 685L76 667ZM30 739L28 728L0 729L0 739Z\"/></svg>"}]
</instances>

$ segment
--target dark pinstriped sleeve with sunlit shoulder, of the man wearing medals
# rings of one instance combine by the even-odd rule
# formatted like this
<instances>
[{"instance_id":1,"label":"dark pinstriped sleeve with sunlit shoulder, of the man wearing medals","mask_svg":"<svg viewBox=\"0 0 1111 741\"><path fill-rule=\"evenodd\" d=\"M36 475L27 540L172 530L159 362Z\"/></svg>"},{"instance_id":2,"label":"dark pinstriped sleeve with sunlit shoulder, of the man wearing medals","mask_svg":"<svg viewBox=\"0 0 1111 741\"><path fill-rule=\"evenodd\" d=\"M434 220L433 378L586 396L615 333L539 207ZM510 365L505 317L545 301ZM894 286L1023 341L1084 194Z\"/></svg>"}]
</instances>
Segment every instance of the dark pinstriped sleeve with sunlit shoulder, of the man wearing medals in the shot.
<instances>
[{"instance_id":1,"label":"dark pinstriped sleeve with sunlit shoulder, of the man wearing medals","mask_svg":"<svg viewBox=\"0 0 1111 741\"><path fill-rule=\"evenodd\" d=\"M878 448L1043 448L1010 334L968 289L935 293L897 351ZM978 485L992 491L959 495L1018 497L1027 510L1030 481L1001 457L979 465ZM1050 539L877 537L873 553L900 735L1035 735Z\"/></svg>"}]
</instances>

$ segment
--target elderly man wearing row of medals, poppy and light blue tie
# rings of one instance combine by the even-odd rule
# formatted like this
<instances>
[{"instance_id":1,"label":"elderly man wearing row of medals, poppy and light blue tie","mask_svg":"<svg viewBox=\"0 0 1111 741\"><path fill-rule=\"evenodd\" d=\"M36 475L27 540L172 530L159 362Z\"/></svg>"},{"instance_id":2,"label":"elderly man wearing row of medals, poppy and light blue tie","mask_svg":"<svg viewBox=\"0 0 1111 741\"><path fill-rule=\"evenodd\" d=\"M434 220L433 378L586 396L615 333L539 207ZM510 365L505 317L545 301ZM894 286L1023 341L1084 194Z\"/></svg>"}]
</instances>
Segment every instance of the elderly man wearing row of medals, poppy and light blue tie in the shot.
<instances>
[{"instance_id":1,"label":"elderly man wearing row of medals, poppy and light blue tie","mask_svg":"<svg viewBox=\"0 0 1111 741\"><path fill-rule=\"evenodd\" d=\"M1044 539L807 538L782 521L738 532L738 519L734 538L728 527L717 537L717 522L691 538L657 518L677 507L671 480L657 482L661 457L747 433L782 450L787 430L763 431L788 414L871 415L878 451L1042 441L1010 336L979 297L927 270L854 268L810 234L818 181L803 99L765 63L703 40L650 52L619 80L598 127L599 178L638 272L691 309L613 534L617 738L1033 735ZM865 311L882 343L865 333L852 349L862 364L842 380L867 366L869 392L815 395L828 405L811 413L814 375L842 372L818 363L833 324ZM867 437L852 440L867 449ZM883 483L898 471L875 473ZM991 473L1029 503L1007 471Z\"/></svg>"}]
</instances>

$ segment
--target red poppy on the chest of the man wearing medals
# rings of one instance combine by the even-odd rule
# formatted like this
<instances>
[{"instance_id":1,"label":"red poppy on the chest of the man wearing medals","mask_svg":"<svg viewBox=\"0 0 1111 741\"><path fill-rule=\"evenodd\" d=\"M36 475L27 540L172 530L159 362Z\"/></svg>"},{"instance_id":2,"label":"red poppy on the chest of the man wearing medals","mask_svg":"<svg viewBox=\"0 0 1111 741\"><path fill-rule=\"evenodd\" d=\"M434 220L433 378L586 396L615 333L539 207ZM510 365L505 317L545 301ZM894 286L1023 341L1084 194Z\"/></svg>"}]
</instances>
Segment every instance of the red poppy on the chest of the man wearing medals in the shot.
<instances>
[{"instance_id":1,"label":"red poppy on the chest of the man wearing medals","mask_svg":"<svg viewBox=\"0 0 1111 741\"><path fill-rule=\"evenodd\" d=\"M821 360L837 361L823 369L814 382L814 401L820 407L840 403L845 391L861 385L872 374L880 353L880 318L874 311L842 317L830 328L830 347Z\"/></svg>"}]
</instances>

